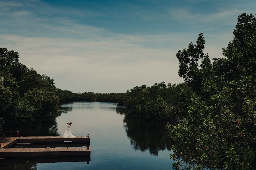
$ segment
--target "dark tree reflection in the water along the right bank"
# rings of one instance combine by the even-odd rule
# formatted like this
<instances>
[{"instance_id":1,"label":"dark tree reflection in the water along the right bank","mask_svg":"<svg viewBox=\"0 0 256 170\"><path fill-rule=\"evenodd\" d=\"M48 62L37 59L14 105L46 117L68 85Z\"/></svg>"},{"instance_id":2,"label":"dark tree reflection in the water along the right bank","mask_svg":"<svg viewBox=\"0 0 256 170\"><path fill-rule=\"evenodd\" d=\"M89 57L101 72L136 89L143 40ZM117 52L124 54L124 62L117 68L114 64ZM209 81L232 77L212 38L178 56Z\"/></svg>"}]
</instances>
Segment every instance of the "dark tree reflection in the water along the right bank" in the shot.
<instances>
[{"instance_id":1,"label":"dark tree reflection in the water along the right bank","mask_svg":"<svg viewBox=\"0 0 256 170\"><path fill-rule=\"evenodd\" d=\"M159 151L171 150L172 142L168 138L164 123L148 122L129 114L127 108L117 107L116 113L125 115L125 131L135 150L158 156Z\"/></svg>"}]
</instances>

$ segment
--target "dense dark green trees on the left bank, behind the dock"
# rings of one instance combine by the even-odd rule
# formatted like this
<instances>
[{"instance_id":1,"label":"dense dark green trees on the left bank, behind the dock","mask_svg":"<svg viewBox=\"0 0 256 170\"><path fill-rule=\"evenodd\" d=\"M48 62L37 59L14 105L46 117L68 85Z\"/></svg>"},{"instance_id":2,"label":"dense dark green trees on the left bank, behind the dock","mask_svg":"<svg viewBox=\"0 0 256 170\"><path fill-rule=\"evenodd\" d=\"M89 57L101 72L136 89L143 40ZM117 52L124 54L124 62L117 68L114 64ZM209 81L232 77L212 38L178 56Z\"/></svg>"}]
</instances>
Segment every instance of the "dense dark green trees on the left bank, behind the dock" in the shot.
<instances>
[{"instance_id":1,"label":"dense dark green trees on the left bank, behind the dock","mask_svg":"<svg viewBox=\"0 0 256 170\"><path fill-rule=\"evenodd\" d=\"M53 79L28 69L18 58L17 52L0 48L0 128L33 125L59 104Z\"/></svg>"}]
</instances>

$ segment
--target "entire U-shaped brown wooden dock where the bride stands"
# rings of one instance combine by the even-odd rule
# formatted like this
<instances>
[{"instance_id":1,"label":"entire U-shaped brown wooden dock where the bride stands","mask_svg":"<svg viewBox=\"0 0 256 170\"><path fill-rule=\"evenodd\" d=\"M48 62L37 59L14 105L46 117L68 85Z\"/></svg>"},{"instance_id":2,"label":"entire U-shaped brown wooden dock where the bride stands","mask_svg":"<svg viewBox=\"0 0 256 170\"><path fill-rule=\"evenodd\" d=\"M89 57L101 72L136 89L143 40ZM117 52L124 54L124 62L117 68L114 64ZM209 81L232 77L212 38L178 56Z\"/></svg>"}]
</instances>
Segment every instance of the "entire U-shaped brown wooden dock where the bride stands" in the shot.
<instances>
[{"instance_id":1,"label":"entire U-shaped brown wooden dock where the bride stands","mask_svg":"<svg viewBox=\"0 0 256 170\"><path fill-rule=\"evenodd\" d=\"M66 147L58 147L56 142L65 143ZM86 143L87 147L68 147L68 143L73 144L73 142ZM0 138L0 158L90 155L91 149L88 144L89 142L89 134L75 138L63 138L61 136L19 137L19 133L17 133L17 137ZM45 145L46 147L44 148L12 148L16 143L55 143L55 145L54 148L49 148L47 147L48 145Z\"/></svg>"}]
</instances>

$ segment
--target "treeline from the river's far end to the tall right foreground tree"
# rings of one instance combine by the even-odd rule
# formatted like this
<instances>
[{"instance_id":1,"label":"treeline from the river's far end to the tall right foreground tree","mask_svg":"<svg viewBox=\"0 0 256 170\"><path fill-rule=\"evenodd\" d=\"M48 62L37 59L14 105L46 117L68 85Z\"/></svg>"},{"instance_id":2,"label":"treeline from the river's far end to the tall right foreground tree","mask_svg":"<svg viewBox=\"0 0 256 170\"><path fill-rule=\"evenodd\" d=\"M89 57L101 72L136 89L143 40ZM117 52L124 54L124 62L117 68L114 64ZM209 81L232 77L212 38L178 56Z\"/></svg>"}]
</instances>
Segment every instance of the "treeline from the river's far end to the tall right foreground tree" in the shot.
<instances>
[{"instance_id":1,"label":"treeline from the river's far end to the tall right foreground tree","mask_svg":"<svg viewBox=\"0 0 256 170\"><path fill-rule=\"evenodd\" d=\"M150 121L174 122L184 117L190 104L191 87L186 83L167 85L165 82L153 86L135 86L126 93L73 93L58 89L60 103L73 101L114 102L125 105L131 113Z\"/></svg>"}]
</instances>

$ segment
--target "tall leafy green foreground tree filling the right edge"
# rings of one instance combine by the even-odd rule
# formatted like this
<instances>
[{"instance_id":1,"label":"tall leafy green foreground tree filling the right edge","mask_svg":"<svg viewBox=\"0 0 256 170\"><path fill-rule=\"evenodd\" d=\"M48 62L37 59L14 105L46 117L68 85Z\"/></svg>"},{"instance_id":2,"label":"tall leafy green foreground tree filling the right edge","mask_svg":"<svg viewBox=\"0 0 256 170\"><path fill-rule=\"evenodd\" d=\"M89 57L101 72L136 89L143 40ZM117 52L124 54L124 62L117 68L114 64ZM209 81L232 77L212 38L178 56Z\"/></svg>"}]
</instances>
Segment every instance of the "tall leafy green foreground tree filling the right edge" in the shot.
<instances>
[{"instance_id":1,"label":"tall leafy green foreground tree filling the right edge","mask_svg":"<svg viewBox=\"0 0 256 170\"><path fill-rule=\"evenodd\" d=\"M174 153L170 154L176 160L173 167L251 169L256 138L255 16L238 17L234 39L223 48L226 58L211 63L202 53L202 36L199 34L193 47L200 52L195 56L189 53L189 61L186 53L177 53L179 75L195 91L187 116L175 125L166 125L174 140ZM188 51L193 51L191 44ZM194 58L202 59L201 68Z\"/></svg>"}]
</instances>

